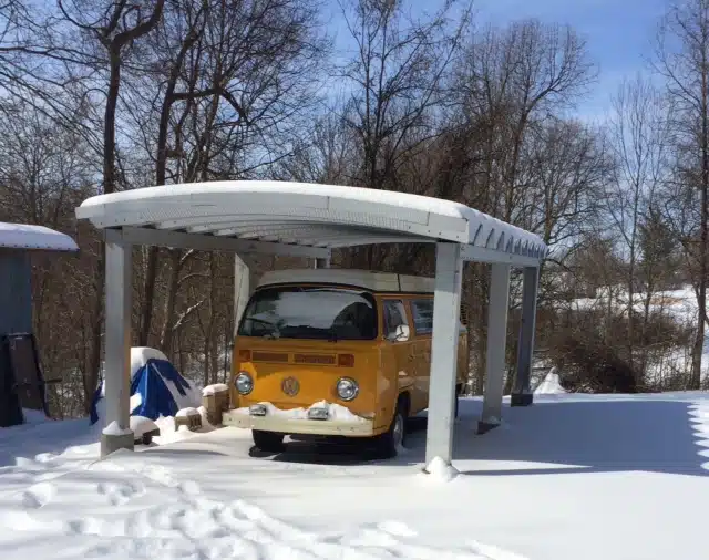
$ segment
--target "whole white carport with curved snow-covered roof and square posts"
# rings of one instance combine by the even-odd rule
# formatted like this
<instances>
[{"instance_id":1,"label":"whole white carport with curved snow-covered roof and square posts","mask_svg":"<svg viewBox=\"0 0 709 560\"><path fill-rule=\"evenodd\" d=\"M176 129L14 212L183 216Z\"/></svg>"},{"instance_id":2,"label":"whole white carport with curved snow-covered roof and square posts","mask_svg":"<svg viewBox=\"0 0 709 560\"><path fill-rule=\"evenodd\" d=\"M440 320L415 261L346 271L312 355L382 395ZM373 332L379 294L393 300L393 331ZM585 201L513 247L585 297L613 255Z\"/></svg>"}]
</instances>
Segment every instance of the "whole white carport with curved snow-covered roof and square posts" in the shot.
<instances>
[{"instance_id":1,"label":"whole white carport with curved snow-covered roof and square posts","mask_svg":"<svg viewBox=\"0 0 709 560\"><path fill-rule=\"evenodd\" d=\"M537 276L547 248L533 234L436 198L332 185L215 182L142 188L89 198L78 209L106 241L105 398L102 454L132 448L129 429L131 256L134 245L237 255L300 256L327 263L335 248L436 243L427 464L452 459L458 318L463 261L492 265L483 425L499 422L510 269L524 269L514 404L530 404Z\"/></svg>"}]
</instances>

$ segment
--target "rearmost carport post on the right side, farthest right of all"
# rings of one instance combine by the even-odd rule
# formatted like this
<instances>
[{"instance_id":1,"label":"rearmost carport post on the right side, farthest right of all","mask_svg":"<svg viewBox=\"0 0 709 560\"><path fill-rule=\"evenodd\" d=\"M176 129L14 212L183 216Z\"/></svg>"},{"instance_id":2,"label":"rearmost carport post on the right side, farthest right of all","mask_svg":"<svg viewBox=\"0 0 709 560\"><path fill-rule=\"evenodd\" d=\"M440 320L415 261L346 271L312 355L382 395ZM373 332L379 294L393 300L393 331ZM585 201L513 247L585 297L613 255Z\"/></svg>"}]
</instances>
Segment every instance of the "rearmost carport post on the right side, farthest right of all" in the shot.
<instances>
[{"instance_id":1,"label":"rearmost carport post on the right side, farthest right of all","mask_svg":"<svg viewBox=\"0 0 709 560\"><path fill-rule=\"evenodd\" d=\"M530 386L532 373L532 353L534 351L534 328L536 323L536 295L540 269L524 268L524 283L522 290L522 322L520 324L520 342L517 345L517 375L511 406L530 406L534 400Z\"/></svg>"}]
</instances>

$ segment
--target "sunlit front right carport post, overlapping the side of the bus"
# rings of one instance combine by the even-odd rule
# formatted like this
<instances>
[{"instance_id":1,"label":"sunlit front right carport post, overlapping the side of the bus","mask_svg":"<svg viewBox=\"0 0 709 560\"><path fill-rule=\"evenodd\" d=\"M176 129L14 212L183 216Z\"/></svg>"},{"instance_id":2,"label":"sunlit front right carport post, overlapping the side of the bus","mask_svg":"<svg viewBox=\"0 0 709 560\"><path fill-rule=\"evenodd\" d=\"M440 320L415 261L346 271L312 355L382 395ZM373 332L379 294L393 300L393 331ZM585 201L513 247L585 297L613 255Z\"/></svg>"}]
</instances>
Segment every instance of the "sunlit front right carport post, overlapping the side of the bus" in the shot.
<instances>
[{"instance_id":1,"label":"sunlit front right carport post, overlapping the side of the bus","mask_svg":"<svg viewBox=\"0 0 709 560\"><path fill-rule=\"evenodd\" d=\"M463 261L459 243L438 243L435 248L435 293L433 298L433 340L429 381L429 422L425 464L439 457L448 465L453 458L455 419L455 377L461 307Z\"/></svg>"}]
</instances>

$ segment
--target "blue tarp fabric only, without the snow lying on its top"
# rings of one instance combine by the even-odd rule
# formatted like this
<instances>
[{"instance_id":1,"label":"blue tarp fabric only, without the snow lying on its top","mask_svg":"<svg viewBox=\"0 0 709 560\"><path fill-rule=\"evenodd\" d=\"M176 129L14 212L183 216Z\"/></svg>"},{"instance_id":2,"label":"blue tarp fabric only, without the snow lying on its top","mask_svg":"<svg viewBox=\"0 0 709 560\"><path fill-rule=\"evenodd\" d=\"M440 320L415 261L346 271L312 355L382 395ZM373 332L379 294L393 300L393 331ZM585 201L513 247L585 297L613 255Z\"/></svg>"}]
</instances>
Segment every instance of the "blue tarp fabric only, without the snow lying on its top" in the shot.
<instances>
[{"instance_id":1,"label":"blue tarp fabric only, without the snow lying on its top","mask_svg":"<svg viewBox=\"0 0 709 560\"><path fill-rule=\"evenodd\" d=\"M167 360L150 359L146 361L131 381L131 396L141 395L141 404L131 411L132 416L144 416L156 421L161 416L174 416L179 406L166 383L171 383L182 396L191 390L189 383L179 375L175 366ZM91 405L91 423L99 422L97 403L102 396L103 382L96 390Z\"/></svg>"}]
</instances>

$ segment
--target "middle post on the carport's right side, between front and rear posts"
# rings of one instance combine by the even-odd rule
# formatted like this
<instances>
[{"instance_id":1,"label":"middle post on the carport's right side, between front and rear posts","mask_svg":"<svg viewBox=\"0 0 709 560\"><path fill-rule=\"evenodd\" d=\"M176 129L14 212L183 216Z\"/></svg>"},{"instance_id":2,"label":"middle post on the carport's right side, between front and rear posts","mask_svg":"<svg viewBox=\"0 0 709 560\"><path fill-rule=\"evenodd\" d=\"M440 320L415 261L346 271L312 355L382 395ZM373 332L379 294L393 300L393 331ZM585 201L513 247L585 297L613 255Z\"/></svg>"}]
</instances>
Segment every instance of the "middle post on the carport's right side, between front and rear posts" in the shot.
<instances>
[{"instance_id":1,"label":"middle post on the carport's right side, between front and rear posts","mask_svg":"<svg viewBox=\"0 0 709 560\"><path fill-rule=\"evenodd\" d=\"M510 265L492 265L487 309L487 366L480 432L496 426L502 417Z\"/></svg>"}]
</instances>

